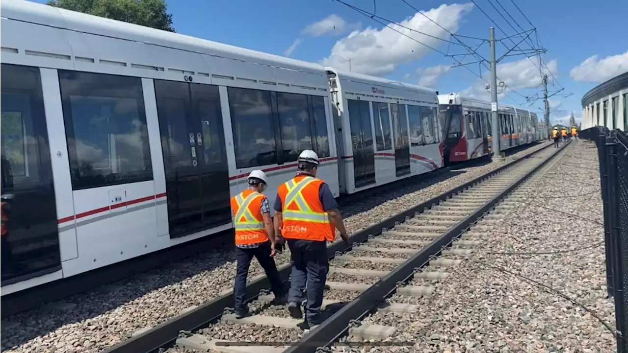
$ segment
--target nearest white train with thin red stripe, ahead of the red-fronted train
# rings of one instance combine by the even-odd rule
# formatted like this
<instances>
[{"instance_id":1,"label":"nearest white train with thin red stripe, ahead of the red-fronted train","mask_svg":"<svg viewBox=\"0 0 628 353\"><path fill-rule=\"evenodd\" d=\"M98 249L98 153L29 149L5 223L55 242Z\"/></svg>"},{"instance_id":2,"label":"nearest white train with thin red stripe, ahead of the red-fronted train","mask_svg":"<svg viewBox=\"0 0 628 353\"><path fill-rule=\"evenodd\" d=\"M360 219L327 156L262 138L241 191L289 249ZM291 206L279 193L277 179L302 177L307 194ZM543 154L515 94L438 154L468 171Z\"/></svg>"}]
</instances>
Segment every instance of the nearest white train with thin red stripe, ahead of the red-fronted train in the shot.
<instances>
[{"instance_id":1,"label":"nearest white train with thin red stripe, ahead of the red-fronted train","mask_svg":"<svg viewBox=\"0 0 628 353\"><path fill-rule=\"evenodd\" d=\"M335 196L443 166L437 93L0 1L0 295L232 227L313 149Z\"/></svg>"}]
</instances>

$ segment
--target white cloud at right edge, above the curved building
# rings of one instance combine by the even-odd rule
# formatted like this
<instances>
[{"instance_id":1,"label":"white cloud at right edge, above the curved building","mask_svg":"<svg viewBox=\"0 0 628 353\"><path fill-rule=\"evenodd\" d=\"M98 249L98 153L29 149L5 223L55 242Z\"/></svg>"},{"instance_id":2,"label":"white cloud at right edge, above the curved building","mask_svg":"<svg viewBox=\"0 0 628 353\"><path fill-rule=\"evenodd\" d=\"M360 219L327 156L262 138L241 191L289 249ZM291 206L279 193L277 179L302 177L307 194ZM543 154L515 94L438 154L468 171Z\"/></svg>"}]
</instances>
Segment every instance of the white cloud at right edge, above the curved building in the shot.
<instances>
[{"instance_id":1,"label":"white cloud at right edge, above the curved building","mask_svg":"<svg viewBox=\"0 0 628 353\"><path fill-rule=\"evenodd\" d=\"M598 55L590 56L571 69L571 78L574 81L602 82L628 71L628 51L600 60L598 58Z\"/></svg>"}]
</instances>

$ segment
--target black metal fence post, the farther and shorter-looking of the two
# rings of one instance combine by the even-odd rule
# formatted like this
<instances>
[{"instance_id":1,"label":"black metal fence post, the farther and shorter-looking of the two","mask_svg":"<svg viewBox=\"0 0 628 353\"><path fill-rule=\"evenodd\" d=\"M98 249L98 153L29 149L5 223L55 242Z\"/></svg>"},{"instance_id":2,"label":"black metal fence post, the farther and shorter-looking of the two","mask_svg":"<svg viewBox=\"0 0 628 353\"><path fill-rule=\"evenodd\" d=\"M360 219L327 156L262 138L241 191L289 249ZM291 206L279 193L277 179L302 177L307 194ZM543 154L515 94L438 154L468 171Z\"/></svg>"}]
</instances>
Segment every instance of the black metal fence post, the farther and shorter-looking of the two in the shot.
<instances>
[{"instance_id":1,"label":"black metal fence post, the farther and shorter-looking of the two","mask_svg":"<svg viewBox=\"0 0 628 353\"><path fill-rule=\"evenodd\" d=\"M606 134L604 129L598 129L597 136L592 136L597 145L598 164L600 166L600 191L602 193L602 206L604 210L604 252L606 256L606 293L609 298L614 295L613 263L615 261L614 246L610 238L609 220L609 188L606 151Z\"/></svg>"}]
</instances>

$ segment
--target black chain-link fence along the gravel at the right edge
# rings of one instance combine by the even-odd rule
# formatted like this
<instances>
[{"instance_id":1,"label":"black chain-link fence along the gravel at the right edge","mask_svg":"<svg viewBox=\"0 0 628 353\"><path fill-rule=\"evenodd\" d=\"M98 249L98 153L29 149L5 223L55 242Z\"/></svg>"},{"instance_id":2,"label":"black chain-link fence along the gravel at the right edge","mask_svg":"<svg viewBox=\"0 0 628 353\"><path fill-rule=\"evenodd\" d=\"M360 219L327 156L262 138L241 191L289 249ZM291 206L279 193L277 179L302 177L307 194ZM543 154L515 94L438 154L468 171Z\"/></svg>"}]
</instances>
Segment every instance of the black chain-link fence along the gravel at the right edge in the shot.
<instances>
[{"instance_id":1,"label":"black chain-link fence along the gravel at the right edge","mask_svg":"<svg viewBox=\"0 0 628 353\"><path fill-rule=\"evenodd\" d=\"M595 142L600 165L600 186L604 204L606 283L615 299L617 352L628 353L628 137L620 130L592 127L580 138Z\"/></svg>"}]
</instances>

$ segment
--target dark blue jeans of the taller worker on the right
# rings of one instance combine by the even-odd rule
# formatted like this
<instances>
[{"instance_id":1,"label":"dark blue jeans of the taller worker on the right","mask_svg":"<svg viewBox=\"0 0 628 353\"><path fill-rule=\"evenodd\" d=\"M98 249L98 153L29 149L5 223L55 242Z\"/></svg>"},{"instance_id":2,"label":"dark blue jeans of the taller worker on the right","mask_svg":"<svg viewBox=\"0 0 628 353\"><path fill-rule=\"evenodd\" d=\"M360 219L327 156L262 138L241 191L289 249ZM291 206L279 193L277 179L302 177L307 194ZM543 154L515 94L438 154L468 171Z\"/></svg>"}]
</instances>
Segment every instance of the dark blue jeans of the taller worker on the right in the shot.
<instances>
[{"instance_id":1,"label":"dark blue jeans of the taller worker on the right","mask_svg":"<svg viewBox=\"0 0 628 353\"><path fill-rule=\"evenodd\" d=\"M327 242L298 239L288 239L287 241L293 261L288 301L303 302L303 290L305 289L305 319L310 323L317 323L320 307L323 305L323 290L325 290L325 281L329 271Z\"/></svg>"}]
</instances>

